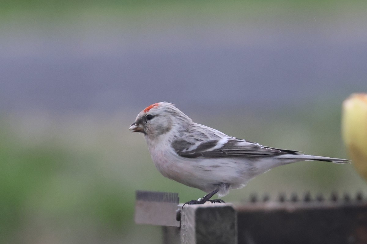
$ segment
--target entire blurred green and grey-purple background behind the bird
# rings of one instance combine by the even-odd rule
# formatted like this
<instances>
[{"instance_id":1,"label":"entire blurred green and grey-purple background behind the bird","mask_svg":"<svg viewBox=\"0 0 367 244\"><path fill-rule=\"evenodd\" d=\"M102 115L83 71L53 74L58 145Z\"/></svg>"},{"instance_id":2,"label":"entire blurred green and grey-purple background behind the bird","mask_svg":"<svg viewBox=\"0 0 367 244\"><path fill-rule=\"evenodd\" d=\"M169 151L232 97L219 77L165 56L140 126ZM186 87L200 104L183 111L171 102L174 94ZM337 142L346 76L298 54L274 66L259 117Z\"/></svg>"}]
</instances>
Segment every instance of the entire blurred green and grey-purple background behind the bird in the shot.
<instances>
[{"instance_id":1,"label":"entire blurred green and grey-purple background behind the bird","mask_svg":"<svg viewBox=\"0 0 367 244\"><path fill-rule=\"evenodd\" d=\"M346 158L342 101L366 91L365 1L0 3L0 242L160 243L135 190L203 192L155 169L138 112L173 102L238 138ZM223 199L366 192L352 165L272 169Z\"/></svg>"}]
</instances>

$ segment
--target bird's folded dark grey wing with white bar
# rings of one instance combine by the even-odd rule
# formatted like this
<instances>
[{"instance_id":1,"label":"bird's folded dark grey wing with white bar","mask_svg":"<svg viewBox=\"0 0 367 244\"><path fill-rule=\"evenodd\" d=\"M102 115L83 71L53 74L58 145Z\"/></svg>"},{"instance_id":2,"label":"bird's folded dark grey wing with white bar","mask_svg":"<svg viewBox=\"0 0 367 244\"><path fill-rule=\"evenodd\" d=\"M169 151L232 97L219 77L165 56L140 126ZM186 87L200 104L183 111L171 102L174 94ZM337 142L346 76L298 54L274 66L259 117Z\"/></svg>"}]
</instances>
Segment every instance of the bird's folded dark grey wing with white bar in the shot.
<instances>
[{"instance_id":1,"label":"bird's folded dark grey wing with white bar","mask_svg":"<svg viewBox=\"0 0 367 244\"><path fill-rule=\"evenodd\" d=\"M265 147L234 137L208 142L189 142L179 139L172 143L176 153L185 158L221 158L221 157L270 157L282 154L301 154L299 151Z\"/></svg>"}]
</instances>

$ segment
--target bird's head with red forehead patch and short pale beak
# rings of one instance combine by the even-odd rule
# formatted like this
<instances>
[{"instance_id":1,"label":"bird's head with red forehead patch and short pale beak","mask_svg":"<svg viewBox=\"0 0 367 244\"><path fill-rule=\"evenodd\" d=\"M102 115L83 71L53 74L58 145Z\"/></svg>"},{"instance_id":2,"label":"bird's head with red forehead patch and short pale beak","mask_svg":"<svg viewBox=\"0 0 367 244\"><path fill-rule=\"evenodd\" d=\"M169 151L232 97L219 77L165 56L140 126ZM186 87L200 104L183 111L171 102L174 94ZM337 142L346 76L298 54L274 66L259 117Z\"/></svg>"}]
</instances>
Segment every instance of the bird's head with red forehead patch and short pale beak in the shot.
<instances>
[{"instance_id":1,"label":"bird's head with red forehead patch and short pale beak","mask_svg":"<svg viewBox=\"0 0 367 244\"><path fill-rule=\"evenodd\" d=\"M142 132L150 137L157 137L172 128L185 126L192 120L169 102L157 102L142 110L130 126L131 132Z\"/></svg>"}]
</instances>

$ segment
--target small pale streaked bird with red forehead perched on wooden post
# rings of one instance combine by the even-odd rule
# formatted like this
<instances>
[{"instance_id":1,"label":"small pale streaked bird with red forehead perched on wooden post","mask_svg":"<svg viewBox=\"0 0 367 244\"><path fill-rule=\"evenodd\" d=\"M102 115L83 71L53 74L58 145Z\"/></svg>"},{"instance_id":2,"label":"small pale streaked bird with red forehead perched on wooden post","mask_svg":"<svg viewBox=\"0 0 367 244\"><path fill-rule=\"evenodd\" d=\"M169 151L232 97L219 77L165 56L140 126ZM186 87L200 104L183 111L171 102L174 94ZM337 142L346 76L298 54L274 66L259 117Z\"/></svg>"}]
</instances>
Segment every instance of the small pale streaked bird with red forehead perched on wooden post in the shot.
<instances>
[{"instance_id":1,"label":"small pale streaked bird with red forehead perched on wooden post","mask_svg":"<svg viewBox=\"0 0 367 244\"><path fill-rule=\"evenodd\" d=\"M274 167L298 161L348 163L348 159L305 155L300 151L262 146L197 124L174 104L158 102L142 110L130 126L142 132L152 160L163 176L207 193L185 204L201 204Z\"/></svg>"}]
</instances>

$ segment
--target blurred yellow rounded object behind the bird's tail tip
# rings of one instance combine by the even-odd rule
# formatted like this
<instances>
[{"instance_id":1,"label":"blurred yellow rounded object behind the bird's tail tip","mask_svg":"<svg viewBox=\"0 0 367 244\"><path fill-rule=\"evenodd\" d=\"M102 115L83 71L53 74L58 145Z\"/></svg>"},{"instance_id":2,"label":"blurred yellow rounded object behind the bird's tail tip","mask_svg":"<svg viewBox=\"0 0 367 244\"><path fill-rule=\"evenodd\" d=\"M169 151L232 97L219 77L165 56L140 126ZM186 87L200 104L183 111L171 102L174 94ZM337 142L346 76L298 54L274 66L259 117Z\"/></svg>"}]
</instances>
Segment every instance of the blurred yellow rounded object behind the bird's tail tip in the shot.
<instances>
[{"instance_id":1,"label":"blurred yellow rounded object behind the bird's tail tip","mask_svg":"<svg viewBox=\"0 0 367 244\"><path fill-rule=\"evenodd\" d=\"M352 164L367 180L367 94L354 93L343 102L342 135Z\"/></svg>"}]
</instances>

